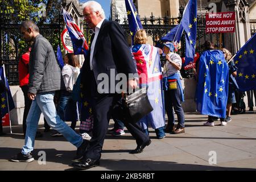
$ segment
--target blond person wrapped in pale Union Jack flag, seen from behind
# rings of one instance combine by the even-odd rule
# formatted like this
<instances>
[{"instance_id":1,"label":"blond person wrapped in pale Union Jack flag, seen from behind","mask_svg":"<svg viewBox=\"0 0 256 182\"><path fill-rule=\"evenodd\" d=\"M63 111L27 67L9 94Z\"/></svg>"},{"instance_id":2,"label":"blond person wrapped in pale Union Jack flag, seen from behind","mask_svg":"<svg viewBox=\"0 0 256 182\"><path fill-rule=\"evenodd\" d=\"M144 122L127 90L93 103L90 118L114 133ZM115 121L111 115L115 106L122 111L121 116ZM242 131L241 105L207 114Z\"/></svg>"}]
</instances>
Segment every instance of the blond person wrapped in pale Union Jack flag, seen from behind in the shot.
<instances>
[{"instance_id":1,"label":"blond person wrapped in pale Union Jack flag, seen from behind","mask_svg":"<svg viewBox=\"0 0 256 182\"><path fill-rule=\"evenodd\" d=\"M166 137L164 133L164 101L162 94L162 69L158 48L147 44L147 34L145 30L138 30L134 37L134 46L131 52L134 56L134 64L141 77L140 87L147 86L148 100L154 108L151 113L139 121L143 131L148 135L148 125L155 129L156 137L162 139ZM160 49L160 52L162 50ZM144 80L143 80L144 79Z\"/></svg>"}]
</instances>

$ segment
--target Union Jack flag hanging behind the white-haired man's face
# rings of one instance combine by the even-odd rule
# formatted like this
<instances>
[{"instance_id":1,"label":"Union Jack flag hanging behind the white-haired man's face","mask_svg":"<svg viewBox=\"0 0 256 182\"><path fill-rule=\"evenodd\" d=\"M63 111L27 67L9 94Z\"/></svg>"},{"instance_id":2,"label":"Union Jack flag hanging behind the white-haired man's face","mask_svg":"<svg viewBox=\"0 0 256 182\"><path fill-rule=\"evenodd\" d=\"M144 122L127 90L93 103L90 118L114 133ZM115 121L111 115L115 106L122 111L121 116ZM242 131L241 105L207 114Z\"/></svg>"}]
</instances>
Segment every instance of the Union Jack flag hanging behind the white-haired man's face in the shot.
<instances>
[{"instance_id":1,"label":"Union Jack flag hanging behind the white-haired man's face","mask_svg":"<svg viewBox=\"0 0 256 182\"><path fill-rule=\"evenodd\" d=\"M63 17L68 28L69 36L72 40L73 51L75 55L86 54L89 47L84 38L84 34L80 30L79 26L77 26L76 22L73 21L71 16L69 16L68 12L63 9Z\"/></svg>"}]
</instances>

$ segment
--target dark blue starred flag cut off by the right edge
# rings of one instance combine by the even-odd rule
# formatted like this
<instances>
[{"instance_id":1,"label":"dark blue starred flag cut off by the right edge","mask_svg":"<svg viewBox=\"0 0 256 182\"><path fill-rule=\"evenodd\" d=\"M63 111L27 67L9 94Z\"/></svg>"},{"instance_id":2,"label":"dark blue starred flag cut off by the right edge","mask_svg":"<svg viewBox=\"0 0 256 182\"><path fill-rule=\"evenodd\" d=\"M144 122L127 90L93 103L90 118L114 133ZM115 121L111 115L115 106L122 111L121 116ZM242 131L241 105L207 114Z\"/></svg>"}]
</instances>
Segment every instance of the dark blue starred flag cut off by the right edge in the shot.
<instances>
[{"instance_id":1,"label":"dark blue starred flag cut off by the right edge","mask_svg":"<svg viewBox=\"0 0 256 182\"><path fill-rule=\"evenodd\" d=\"M237 66L237 84L241 91L256 89L256 34L251 37L234 57Z\"/></svg>"}]
</instances>

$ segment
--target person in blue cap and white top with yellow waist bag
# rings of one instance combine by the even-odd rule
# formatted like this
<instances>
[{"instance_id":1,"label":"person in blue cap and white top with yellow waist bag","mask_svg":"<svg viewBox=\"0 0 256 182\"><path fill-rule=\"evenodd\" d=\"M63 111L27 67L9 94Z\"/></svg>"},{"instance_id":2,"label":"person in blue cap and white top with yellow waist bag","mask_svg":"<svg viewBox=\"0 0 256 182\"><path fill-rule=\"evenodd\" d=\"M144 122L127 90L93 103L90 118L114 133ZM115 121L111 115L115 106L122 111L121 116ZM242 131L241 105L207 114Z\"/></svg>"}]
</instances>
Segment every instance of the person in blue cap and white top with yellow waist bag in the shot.
<instances>
[{"instance_id":1,"label":"person in blue cap and white top with yellow waist bag","mask_svg":"<svg viewBox=\"0 0 256 182\"><path fill-rule=\"evenodd\" d=\"M163 70L163 90L168 123L166 133L180 134L185 133L185 116L181 105L184 102L184 94L181 85L180 69L182 60L180 55L174 53L174 44L164 43L163 52L166 54L166 64ZM178 124L175 127L174 107L177 114Z\"/></svg>"}]
</instances>

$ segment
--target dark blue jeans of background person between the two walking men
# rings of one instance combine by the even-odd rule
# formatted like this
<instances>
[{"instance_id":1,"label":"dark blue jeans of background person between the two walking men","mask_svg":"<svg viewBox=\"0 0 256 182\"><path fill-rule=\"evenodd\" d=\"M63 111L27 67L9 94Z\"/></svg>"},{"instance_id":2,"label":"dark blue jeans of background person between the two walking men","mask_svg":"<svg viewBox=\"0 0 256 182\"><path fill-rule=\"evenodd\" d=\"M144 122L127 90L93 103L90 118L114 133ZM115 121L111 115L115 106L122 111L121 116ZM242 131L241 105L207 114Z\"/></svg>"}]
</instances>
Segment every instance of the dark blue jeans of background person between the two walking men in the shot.
<instances>
[{"instance_id":1,"label":"dark blue jeans of background person between the two walking men","mask_svg":"<svg viewBox=\"0 0 256 182\"><path fill-rule=\"evenodd\" d=\"M67 90L60 91L60 99L59 99L59 105L57 108L57 113L59 114L61 120L71 121L71 128L75 130L76 121L78 119L77 106L76 106L76 102L72 100L71 93L68 92Z\"/></svg>"}]
</instances>

